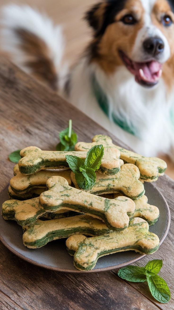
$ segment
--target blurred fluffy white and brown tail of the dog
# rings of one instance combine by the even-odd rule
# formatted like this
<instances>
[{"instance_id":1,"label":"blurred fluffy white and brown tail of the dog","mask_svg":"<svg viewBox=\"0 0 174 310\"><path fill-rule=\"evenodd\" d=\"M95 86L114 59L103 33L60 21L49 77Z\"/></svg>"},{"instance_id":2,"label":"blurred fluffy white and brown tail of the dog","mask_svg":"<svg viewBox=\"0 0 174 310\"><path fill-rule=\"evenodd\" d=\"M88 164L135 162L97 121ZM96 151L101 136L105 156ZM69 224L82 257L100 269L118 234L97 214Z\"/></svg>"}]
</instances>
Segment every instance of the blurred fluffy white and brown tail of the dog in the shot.
<instances>
[{"instance_id":1,"label":"blurred fluffy white and brown tail of the dog","mask_svg":"<svg viewBox=\"0 0 174 310\"><path fill-rule=\"evenodd\" d=\"M21 69L58 89L64 51L61 26L26 5L5 6L2 14L2 50Z\"/></svg>"}]
</instances>

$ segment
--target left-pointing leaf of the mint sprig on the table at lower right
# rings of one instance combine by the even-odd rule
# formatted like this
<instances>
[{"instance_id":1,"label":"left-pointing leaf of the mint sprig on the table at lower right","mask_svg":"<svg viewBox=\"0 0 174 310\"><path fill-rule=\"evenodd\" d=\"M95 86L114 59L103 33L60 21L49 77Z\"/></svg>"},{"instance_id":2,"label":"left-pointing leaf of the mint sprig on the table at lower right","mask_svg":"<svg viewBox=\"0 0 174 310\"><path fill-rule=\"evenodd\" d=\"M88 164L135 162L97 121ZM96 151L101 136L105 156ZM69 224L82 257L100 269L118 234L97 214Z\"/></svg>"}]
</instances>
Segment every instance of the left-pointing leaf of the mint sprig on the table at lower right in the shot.
<instances>
[{"instance_id":1,"label":"left-pointing leaf of the mint sprig on the table at lower right","mask_svg":"<svg viewBox=\"0 0 174 310\"><path fill-rule=\"evenodd\" d=\"M118 277L130 282L145 282L145 268L138 266L123 267L118 271Z\"/></svg>"}]
</instances>

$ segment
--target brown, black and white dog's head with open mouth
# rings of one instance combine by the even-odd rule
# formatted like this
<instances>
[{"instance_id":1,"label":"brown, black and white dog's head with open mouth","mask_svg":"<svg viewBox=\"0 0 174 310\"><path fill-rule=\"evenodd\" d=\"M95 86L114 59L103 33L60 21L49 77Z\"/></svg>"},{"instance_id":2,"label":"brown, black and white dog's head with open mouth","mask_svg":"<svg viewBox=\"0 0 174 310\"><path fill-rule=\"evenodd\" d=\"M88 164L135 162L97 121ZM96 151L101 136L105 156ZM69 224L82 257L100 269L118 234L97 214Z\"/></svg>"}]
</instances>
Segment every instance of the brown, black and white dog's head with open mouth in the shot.
<instances>
[{"instance_id":1,"label":"brown, black and white dog's head with open mouth","mask_svg":"<svg viewBox=\"0 0 174 310\"><path fill-rule=\"evenodd\" d=\"M86 19L94 29L91 61L106 73L125 65L136 82L156 85L162 65L174 55L174 0L108 0Z\"/></svg>"}]
</instances>

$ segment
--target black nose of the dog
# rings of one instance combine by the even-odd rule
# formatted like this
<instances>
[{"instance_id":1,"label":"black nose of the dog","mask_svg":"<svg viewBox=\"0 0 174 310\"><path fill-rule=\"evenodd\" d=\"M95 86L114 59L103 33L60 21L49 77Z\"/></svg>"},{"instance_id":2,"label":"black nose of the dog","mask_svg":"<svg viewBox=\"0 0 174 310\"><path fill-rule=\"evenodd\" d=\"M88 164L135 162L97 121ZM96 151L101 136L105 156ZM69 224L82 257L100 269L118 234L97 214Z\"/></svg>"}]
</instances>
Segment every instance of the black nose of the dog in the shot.
<instances>
[{"instance_id":1,"label":"black nose of the dog","mask_svg":"<svg viewBox=\"0 0 174 310\"><path fill-rule=\"evenodd\" d=\"M151 54L152 56L156 56L163 52L164 42L158 37L152 37L144 41L143 47L147 53Z\"/></svg>"}]
</instances>

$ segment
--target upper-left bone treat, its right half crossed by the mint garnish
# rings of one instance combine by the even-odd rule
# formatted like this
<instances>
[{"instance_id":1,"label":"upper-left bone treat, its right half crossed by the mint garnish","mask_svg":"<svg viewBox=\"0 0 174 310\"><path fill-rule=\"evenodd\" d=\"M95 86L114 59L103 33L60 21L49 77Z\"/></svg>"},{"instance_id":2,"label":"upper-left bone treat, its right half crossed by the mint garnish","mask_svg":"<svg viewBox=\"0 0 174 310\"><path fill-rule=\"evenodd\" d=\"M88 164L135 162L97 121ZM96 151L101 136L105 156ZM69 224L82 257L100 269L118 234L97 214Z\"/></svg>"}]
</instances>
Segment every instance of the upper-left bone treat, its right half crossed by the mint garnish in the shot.
<instances>
[{"instance_id":1,"label":"upper-left bone treat, its right half crossed by the mint garnish","mask_svg":"<svg viewBox=\"0 0 174 310\"><path fill-rule=\"evenodd\" d=\"M88 150L83 152L42 151L35 146L29 146L20 151L21 158L18 162L22 174L30 175L44 169L65 169L68 166L66 155L86 158ZM100 173L115 174L123 164L120 152L116 148L106 149L101 160Z\"/></svg>"}]
</instances>

